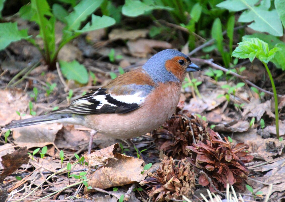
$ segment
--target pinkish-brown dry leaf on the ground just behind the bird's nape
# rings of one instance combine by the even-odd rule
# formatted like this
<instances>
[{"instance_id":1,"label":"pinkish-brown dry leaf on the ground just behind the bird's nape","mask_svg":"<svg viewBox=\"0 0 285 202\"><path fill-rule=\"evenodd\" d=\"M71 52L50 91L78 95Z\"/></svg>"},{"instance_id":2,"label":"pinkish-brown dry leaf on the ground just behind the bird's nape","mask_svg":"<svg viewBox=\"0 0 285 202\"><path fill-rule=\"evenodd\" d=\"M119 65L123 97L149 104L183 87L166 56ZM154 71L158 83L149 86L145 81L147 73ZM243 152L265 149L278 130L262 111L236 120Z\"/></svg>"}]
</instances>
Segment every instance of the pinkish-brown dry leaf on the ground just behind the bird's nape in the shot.
<instances>
[{"instance_id":1,"label":"pinkish-brown dry leaf on the ground just behind the bird's nape","mask_svg":"<svg viewBox=\"0 0 285 202\"><path fill-rule=\"evenodd\" d=\"M152 48L171 49L172 45L165 41L152 39L138 39L137 41L128 41L127 46L132 56L145 58L152 52Z\"/></svg>"}]
</instances>

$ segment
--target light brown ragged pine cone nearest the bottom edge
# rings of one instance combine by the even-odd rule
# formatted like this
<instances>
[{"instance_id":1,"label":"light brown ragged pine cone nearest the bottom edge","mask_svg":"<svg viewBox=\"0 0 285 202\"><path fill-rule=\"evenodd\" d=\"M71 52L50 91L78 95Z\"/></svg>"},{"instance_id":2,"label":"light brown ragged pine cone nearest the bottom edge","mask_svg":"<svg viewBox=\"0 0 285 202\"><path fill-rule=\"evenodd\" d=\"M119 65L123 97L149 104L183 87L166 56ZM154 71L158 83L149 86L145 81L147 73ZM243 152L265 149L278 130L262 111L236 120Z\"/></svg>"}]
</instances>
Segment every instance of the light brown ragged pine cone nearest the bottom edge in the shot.
<instances>
[{"instance_id":1,"label":"light brown ragged pine cone nearest the bottom edge","mask_svg":"<svg viewBox=\"0 0 285 202\"><path fill-rule=\"evenodd\" d=\"M148 195L154 202L181 200L182 195L191 197L195 189L194 171L190 163L183 159L175 164L172 157L162 160L159 169L149 172L148 178L140 182L147 185Z\"/></svg>"}]
</instances>

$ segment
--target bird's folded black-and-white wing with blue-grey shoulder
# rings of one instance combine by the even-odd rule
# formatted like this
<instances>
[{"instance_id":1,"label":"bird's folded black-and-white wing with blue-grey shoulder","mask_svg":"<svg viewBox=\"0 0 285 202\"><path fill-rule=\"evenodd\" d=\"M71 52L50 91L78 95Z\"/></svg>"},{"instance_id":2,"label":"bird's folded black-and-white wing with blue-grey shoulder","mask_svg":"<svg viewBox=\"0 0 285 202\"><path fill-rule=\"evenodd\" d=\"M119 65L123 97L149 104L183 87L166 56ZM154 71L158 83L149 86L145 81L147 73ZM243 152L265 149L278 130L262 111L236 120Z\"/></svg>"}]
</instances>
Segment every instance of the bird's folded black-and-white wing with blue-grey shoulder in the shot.
<instances>
[{"instance_id":1,"label":"bird's folded black-and-white wing with blue-grey shoulder","mask_svg":"<svg viewBox=\"0 0 285 202\"><path fill-rule=\"evenodd\" d=\"M52 113L124 114L139 108L153 88L150 85L136 84L121 85L114 88L102 87L74 100L70 106Z\"/></svg>"}]
</instances>

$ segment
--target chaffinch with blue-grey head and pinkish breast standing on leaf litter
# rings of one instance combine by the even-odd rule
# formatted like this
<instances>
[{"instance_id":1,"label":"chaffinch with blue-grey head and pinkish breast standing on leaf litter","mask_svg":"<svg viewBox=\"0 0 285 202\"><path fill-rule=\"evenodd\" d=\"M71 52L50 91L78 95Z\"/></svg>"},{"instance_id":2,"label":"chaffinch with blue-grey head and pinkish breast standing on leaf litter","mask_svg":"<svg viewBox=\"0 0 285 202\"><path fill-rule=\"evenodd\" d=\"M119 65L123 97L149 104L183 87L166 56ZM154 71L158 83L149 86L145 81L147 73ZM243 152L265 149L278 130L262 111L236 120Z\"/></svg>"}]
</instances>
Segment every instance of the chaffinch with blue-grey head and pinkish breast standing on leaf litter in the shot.
<instances>
[{"instance_id":1,"label":"chaffinch with blue-grey head and pinkish breast standing on leaf litter","mask_svg":"<svg viewBox=\"0 0 285 202\"><path fill-rule=\"evenodd\" d=\"M63 123L92 129L119 139L144 135L171 118L188 72L201 71L190 58L174 49L154 54L141 68L121 74L107 85L88 92L69 106L49 114L14 120L5 129L42 123Z\"/></svg>"}]
</instances>

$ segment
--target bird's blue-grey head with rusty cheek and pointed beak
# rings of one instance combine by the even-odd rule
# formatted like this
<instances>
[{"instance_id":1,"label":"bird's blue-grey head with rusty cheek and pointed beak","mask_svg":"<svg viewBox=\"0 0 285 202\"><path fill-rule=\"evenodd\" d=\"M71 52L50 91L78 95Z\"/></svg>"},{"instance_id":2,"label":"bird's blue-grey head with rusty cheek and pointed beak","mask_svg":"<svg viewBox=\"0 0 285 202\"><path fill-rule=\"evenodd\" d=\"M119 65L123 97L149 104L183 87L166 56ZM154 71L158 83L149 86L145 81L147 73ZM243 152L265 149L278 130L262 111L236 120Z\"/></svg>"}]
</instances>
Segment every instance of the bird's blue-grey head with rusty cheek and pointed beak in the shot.
<instances>
[{"instance_id":1,"label":"bird's blue-grey head with rusty cheek and pointed beak","mask_svg":"<svg viewBox=\"0 0 285 202\"><path fill-rule=\"evenodd\" d=\"M186 72L201 71L190 58L174 49L156 53L144 65L143 69L154 82L183 82Z\"/></svg>"}]
</instances>

